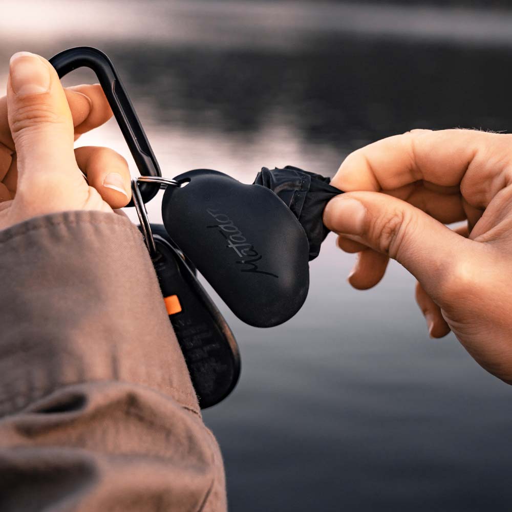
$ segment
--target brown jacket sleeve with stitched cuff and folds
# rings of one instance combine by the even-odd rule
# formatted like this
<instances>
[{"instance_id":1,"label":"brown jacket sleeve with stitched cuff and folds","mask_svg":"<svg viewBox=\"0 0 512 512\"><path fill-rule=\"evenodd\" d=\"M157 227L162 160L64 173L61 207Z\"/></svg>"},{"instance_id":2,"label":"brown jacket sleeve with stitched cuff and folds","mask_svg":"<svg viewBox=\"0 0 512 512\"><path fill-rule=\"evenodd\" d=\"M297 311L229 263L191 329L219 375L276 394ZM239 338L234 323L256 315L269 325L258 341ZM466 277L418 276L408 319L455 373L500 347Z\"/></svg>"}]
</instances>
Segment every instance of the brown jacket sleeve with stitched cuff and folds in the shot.
<instances>
[{"instance_id":1,"label":"brown jacket sleeve with stitched cuff and folds","mask_svg":"<svg viewBox=\"0 0 512 512\"><path fill-rule=\"evenodd\" d=\"M142 238L65 212L0 231L0 510L226 509Z\"/></svg>"}]
</instances>

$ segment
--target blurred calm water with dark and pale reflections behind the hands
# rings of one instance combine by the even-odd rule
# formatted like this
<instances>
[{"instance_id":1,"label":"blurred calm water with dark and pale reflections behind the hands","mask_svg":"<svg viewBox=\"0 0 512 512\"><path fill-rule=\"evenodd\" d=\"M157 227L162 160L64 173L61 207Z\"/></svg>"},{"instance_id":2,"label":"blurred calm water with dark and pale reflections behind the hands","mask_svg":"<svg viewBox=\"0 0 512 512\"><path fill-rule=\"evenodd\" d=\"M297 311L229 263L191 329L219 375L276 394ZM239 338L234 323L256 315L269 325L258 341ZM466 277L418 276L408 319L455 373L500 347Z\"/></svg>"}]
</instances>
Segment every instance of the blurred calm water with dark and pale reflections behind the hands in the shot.
<instances>
[{"instance_id":1,"label":"blurred calm water with dark and pale reflections behind the hands","mask_svg":"<svg viewBox=\"0 0 512 512\"><path fill-rule=\"evenodd\" d=\"M15 51L102 49L168 177L210 167L249 183L286 164L332 176L355 148L415 127L510 129L502 2L0 7L1 83ZM79 143L129 157L113 121ZM148 205L155 222L159 207ZM237 389L204 413L230 509L511 510L512 389L453 335L429 339L400 266L357 292L352 263L330 236L306 305L273 329L243 325L218 300L243 363Z\"/></svg>"}]
</instances>

